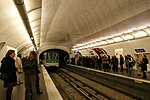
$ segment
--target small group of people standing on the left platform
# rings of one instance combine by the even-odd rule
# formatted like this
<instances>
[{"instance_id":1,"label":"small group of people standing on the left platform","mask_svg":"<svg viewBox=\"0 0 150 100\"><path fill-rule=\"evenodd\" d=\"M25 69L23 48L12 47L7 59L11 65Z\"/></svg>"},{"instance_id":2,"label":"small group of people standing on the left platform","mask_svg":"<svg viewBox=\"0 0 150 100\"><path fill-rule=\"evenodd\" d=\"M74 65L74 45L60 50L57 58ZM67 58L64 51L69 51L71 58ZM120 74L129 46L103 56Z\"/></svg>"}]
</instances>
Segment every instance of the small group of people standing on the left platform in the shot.
<instances>
[{"instance_id":1,"label":"small group of people standing on the left platform","mask_svg":"<svg viewBox=\"0 0 150 100\"><path fill-rule=\"evenodd\" d=\"M38 61L35 51L31 51L28 57L21 59L21 55L15 58L15 51L8 50L1 61L0 72L9 77L4 80L4 87L7 88L6 100L11 100L13 87L25 83L25 100L37 100L37 94L42 92L39 89ZM23 80L24 72L24 80Z\"/></svg>"}]
</instances>

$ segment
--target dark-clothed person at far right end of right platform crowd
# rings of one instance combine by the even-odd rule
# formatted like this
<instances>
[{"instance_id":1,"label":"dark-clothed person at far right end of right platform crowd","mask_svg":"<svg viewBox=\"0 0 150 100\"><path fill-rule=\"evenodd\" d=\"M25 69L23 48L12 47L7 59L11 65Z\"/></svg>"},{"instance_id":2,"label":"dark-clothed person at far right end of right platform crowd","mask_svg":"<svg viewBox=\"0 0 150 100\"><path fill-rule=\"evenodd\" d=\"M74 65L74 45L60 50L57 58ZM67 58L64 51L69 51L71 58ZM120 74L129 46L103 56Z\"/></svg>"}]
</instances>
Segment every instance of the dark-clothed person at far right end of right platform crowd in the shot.
<instances>
[{"instance_id":1,"label":"dark-clothed person at far right end of right platform crowd","mask_svg":"<svg viewBox=\"0 0 150 100\"><path fill-rule=\"evenodd\" d=\"M146 55L143 56L142 61L141 61L141 70L143 72L143 77L144 79L147 79L146 71L147 71L147 64L149 63Z\"/></svg>"}]
</instances>

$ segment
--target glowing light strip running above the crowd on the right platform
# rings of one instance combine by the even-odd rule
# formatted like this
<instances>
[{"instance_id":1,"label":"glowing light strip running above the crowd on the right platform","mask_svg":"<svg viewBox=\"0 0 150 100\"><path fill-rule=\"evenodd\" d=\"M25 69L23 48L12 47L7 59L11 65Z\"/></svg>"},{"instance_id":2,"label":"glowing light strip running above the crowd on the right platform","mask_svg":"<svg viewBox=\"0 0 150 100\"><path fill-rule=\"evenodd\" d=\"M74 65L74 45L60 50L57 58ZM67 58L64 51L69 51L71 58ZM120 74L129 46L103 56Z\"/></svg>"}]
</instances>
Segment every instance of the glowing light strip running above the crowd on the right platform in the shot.
<instances>
[{"instance_id":1,"label":"glowing light strip running above the crowd on the right platform","mask_svg":"<svg viewBox=\"0 0 150 100\"><path fill-rule=\"evenodd\" d=\"M147 26L147 28L144 29L141 29L140 27L139 29L140 30L135 30L135 31L128 30L128 32L130 33L120 33L120 34L115 34L113 36L108 36L109 38L103 40L101 39L101 41L92 41L84 44L78 44L77 46L74 46L74 50L92 48L100 45L107 45L110 43L122 42L122 41L130 41L133 39L150 36L150 27Z\"/></svg>"}]
</instances>

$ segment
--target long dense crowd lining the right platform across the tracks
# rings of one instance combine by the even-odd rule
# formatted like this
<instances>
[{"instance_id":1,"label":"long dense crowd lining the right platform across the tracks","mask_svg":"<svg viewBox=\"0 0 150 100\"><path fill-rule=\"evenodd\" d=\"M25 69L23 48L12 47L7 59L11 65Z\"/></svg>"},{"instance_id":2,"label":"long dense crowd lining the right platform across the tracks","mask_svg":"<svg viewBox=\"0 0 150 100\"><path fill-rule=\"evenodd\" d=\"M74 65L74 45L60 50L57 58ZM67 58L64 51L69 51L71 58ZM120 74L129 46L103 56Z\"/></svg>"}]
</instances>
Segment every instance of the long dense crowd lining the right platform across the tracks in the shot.
<instances>
[{"instance_id":1,"label":"long dense crowd lining the right platform across the tracks","mask_svg":"<svg viewBox=\"0 0 150 100\"><path fill-rule=\"evenodd\" d=\"M143 56L142 59L139 59L139 56L137 55L136 58L133 58L131 55L125 55L124 57L120 55L119 58L116 57L116 55L110 57L109 55L103 55L103 56L75 56L71 58L71 64L75 64L78 66L83 67L89 67L89 68L95 68L99 70L103 70L105 72L113 71L114 73L117 73L118 70L120 72L123 72L126 70L128 73L128 76L133 76L134 71L133 67L136 66L136 71L138 71L138 74L142 71L143 77L147 78L146 71L147 71L147 64L148 59L146 55Z\"/></svg>"}]
</instances>

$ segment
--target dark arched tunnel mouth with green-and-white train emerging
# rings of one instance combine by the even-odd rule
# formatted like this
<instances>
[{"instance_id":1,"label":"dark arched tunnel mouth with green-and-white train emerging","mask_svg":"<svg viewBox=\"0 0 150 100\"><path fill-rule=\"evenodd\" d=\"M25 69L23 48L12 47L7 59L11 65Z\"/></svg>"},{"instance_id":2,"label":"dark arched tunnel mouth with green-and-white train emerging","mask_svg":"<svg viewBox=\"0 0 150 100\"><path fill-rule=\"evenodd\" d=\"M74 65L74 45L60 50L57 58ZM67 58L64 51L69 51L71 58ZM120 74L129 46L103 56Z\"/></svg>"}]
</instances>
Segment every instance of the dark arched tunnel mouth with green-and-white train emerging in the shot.
<instances>
[{"instance_id":1,"label":"dark arched tunnel mouth with green-and-white train emerging","mask_svg":"<svg viewBox=\"0 0 150 100\"><path fill-rule=\"evenodd\" d=\"M69 54L61 49L48 49L40 54L40 63L48 70L57 70L69 60Z\"/></svg>"}]
</instances>

